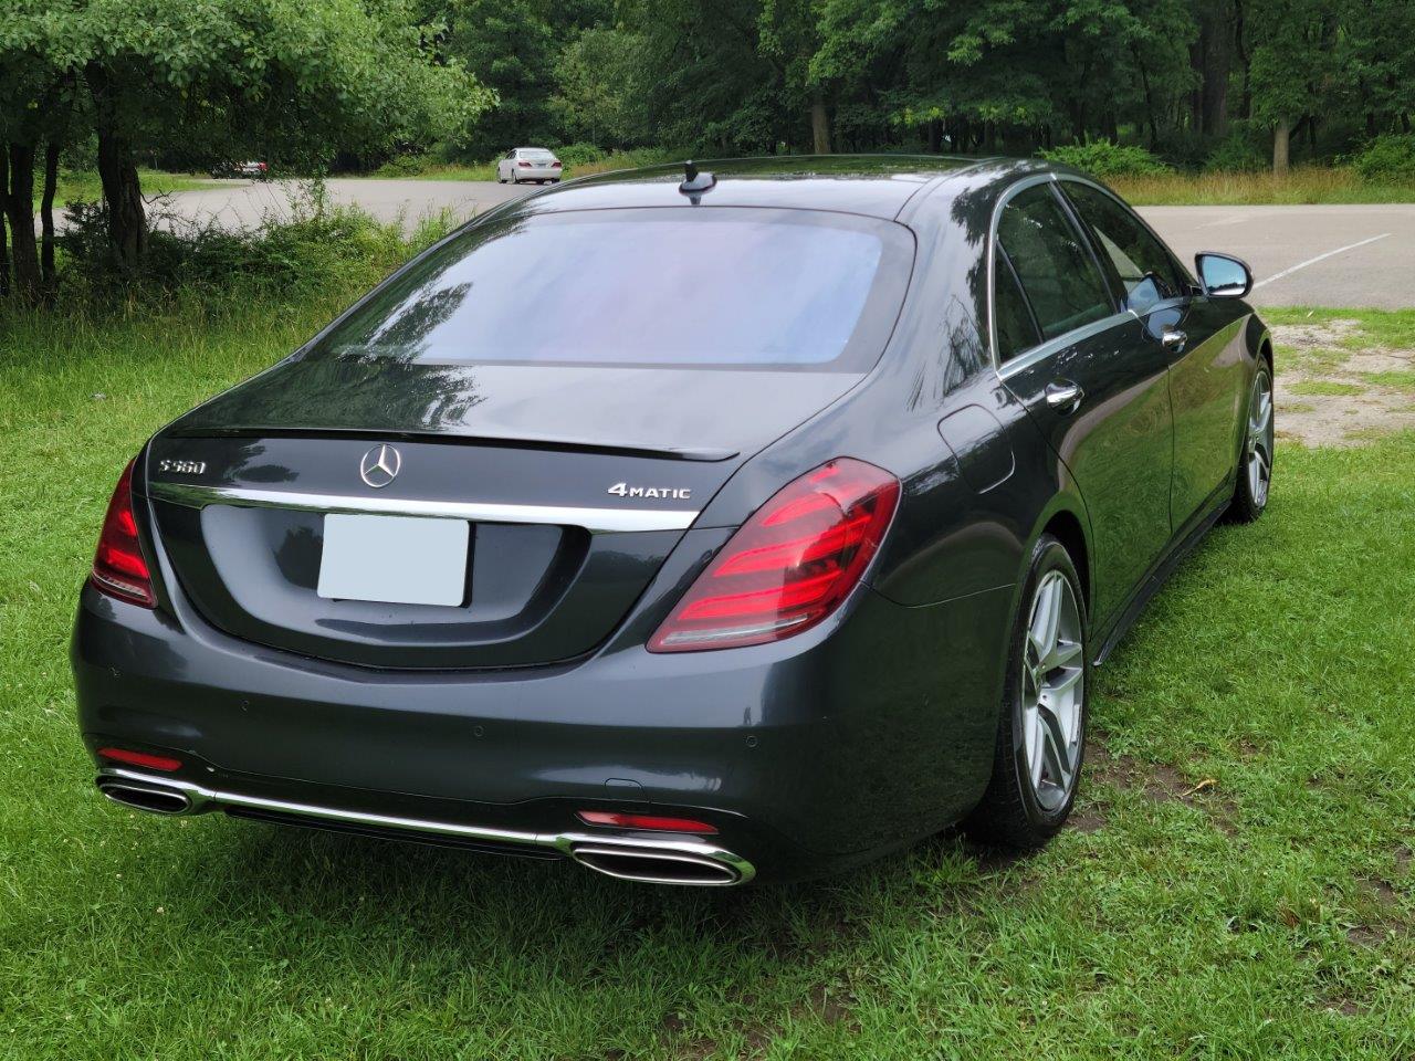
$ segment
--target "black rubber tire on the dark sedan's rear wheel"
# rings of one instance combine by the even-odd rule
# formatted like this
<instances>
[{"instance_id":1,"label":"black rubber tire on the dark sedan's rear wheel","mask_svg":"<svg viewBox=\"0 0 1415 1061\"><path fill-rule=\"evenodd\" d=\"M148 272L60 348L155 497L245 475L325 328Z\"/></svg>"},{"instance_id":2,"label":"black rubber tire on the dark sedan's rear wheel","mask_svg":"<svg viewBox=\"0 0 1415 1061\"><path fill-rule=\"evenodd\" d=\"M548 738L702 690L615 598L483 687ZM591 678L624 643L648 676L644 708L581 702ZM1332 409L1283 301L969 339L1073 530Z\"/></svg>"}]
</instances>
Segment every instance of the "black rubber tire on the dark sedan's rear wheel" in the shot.
<instances>
[{"instance_id":1,"label":"black rubber tire on the dark sedan's rear wheel","mask_svg":"<svg viewBox=\"0 0 1415 1061\"><path fill-rule=\"evenodd\" d=\"M1029 685L1029 666L1024 663L1029 655L1029 627L1033 611L1037 605L1037 590L1046 584L1049 591L1058 591L1056 580L1049 576L1056 572L1070 586L1075 605L1075 638L1065 644L1073 647L1080 644L1080 654L1073 656L1078 663L1071 668L1058 666L1054 673L1057 680L1064 680L1075 666L1080 666L1080 695L1075 696L1074 710L1075 734L1067 741L1074 754L1074 768L1068 784L1060 785L1041 782L1043 794L1032 781L1026 737L1026 709L1023 699ZM1060 605L1058 605L1060 607ZM1063 642L1057 641L1058 652ZM1032 563L1027 570L1026 584L1022 591L1022 601L1017 615L1012 624L1012 634L1007 638L1007 673L1003 685L1003 702L1000 721L998 724L998 746L993 757L992 779L982 802L964 822L964 828L974 839L986 845L1000 845L1019 850L1032 850L1050 840L1065 823L1075 804L1075 794L1080 788L1081 768L1085 763L1085 729L1090 706L1091 689L1091 645L1090 624L1085 614L1085 596L1081 591L1081 580L1077 577L1075 564L1065 546L1051 535L1043 535L1032 550ZM1071 649L1067 649L1071 651ZM1034 672L1033 672L1034 675ZM1036 680L1034 676L1030 680ZM1078 703L1075 703L1078 702ZM1032 709L1040 712L1040 707ZM1040 753L1040 748L1037 751Z\"/></svg>"}]
</instances>

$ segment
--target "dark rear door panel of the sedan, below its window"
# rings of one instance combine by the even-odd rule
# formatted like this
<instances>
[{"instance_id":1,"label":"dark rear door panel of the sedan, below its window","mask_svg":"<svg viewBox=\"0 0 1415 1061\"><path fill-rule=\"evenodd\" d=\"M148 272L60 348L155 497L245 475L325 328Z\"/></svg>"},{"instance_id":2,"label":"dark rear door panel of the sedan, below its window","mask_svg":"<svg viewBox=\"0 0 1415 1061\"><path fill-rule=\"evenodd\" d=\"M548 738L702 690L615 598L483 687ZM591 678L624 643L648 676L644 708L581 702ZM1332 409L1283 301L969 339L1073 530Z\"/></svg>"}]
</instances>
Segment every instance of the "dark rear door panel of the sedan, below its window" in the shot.
<instances>
[{"instance_id":1,"label":"dark rear door panel of the sedan, below its window","mask_svg":"<svg viewBox=\"0 0 1415 1061\"><path fill-rule=\"evenodd\" d=\"M1173 431L1160 347L1132 315L1060 352L1022 364L1006 385L1075 478L1091 519L1092 617L1104 630L1170 538ZM1081 388L1074 410L1049 386Z\"/></svg>"}]
</instances>

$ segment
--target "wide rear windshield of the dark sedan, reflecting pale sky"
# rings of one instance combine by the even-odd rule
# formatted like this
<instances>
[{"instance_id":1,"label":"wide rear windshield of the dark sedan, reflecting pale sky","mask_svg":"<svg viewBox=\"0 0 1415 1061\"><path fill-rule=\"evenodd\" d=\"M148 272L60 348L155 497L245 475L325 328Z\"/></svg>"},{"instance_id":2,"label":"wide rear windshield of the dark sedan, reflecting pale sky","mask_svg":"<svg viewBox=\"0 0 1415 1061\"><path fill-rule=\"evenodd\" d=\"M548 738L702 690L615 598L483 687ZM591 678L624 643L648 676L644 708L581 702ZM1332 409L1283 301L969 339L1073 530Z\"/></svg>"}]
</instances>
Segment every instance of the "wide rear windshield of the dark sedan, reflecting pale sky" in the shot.
<instances>
[{"instance_id":1,"label":"wide rear windshield of the dark sedan, reflecting pale sky","mask_svg":"<svg viewBox=\"0 0 1415 1061\"><path fill-rule=\"evenodd\" d=\"M913 239L815 211L608 209L473 225L341 321L313 356L863 371Z\"/></svg>"}]
</instances>

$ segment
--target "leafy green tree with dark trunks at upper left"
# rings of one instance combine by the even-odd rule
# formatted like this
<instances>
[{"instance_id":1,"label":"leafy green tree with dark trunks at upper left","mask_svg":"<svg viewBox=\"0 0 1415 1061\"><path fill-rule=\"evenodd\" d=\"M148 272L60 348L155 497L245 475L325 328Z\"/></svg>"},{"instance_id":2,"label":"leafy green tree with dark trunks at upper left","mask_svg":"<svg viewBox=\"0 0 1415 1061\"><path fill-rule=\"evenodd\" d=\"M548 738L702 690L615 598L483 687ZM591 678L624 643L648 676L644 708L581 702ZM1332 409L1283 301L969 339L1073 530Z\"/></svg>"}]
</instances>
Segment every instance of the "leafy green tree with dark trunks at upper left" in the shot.
<instances>
[{"instance_id":1,"label":"leafy green tree with dark trunks at upper left","mask_svg":"<svg viewBox=\"0 0 1415 1061\"><path fill-rule=\"evenodd\" d=\"M92 134L109 242L126 266L146 249L137 160L147 153L180 149L208 161L259 153L310 170L341 144L446 134L491 102L458 64L434 55L437 27L420 23L409 0L6 3L7 202L28 197L41 140ZM11 218L17 282L28 273L24 224Z\"/></svg>"}]
</instances>

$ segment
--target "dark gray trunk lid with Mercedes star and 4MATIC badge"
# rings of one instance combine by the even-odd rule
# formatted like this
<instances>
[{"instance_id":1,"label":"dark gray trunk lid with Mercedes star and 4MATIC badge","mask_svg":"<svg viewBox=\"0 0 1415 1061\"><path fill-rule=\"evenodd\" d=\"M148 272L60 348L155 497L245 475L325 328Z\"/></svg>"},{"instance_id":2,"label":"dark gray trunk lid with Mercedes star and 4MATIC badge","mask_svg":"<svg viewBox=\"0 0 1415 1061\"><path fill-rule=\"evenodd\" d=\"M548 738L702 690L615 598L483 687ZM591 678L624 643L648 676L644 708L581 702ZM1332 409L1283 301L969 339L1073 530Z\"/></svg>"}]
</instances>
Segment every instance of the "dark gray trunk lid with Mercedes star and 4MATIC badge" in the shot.
<instances>
[{"instance_id":1,"label":"dark gray trunk lid with Mercedes star and 4MATIC badge","mask_svg":"<svg viewBox=\"0 0 1415 1061\"><path fill-rule=\"evenodd\" d=\"M773 375L291 361L154 439L142 492L228 634L381 668L560 662L614 631L746 457L857 379ZM344 514L464 522L457 603L321 596Z\"/></svg>"}]
</instances>

